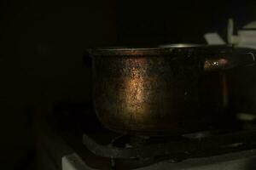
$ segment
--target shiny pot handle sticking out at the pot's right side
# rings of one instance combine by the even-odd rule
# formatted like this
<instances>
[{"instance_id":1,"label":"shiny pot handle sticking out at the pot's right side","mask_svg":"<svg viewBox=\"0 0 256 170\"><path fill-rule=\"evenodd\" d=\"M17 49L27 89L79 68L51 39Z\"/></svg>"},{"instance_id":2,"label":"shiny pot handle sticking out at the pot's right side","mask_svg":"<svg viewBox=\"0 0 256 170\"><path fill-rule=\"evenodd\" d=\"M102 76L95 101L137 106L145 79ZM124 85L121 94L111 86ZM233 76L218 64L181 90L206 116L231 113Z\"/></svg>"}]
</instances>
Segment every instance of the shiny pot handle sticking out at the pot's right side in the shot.
<instances>
[{"instance_id":1,"label":"shiny pot handle sticking out at the pot's right side","mask_svg":"<svg viewBox=\"0 0 256 170\"><path fill-rule=\"evenodd\" d=\"M205 59L203 62L204 71L223 71L237 67L252 66L255 64L253 53L230 54L218 59Z\"/></svg>"}]
</instances>

